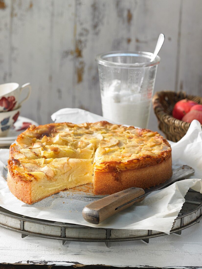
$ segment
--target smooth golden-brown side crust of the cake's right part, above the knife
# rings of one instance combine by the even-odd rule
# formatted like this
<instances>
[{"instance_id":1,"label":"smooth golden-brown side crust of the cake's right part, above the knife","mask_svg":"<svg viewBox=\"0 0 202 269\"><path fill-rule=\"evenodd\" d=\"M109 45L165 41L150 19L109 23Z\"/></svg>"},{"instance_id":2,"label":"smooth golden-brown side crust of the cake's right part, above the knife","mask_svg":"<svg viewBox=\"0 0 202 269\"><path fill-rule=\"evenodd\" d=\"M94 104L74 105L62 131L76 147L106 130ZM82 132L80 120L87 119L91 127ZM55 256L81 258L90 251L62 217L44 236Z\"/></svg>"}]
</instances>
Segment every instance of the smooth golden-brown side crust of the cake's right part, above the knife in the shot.
<instances>
[{"instance_id":1,"label":"smooth golden-brown side crust of the cake's right part, above the knife","mask_svg":"<svg viewBox=\"0 0 202 269\"><path fill-rule=\"evenodd\" d=\"M150 167L120 172L94 172L94 194L113 194L130 187L146 189L172 176L172 158Z\"/></svg>"}]
</instances>

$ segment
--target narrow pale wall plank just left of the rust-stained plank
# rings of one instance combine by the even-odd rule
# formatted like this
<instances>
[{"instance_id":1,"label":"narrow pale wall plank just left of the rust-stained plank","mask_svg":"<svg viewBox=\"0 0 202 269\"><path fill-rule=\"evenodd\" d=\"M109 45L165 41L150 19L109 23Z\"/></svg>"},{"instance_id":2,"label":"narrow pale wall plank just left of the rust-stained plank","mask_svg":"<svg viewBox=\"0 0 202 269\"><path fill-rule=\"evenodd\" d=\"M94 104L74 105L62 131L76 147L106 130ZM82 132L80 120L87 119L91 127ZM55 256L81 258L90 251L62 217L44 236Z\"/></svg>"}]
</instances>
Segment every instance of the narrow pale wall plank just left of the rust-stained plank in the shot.
<instances>
[{"instance_id":1,"label":"narrow pale wall plank just left of the rust-stained plank","mask_svg":"<svg viewBox=\"0 0 202 269\"><path fill-rule=\"evenodd\" d=\"M75 1L54 1L51 17L50 75L47 121L60 108L73 107Z\"/></svg>"}]
</instances>

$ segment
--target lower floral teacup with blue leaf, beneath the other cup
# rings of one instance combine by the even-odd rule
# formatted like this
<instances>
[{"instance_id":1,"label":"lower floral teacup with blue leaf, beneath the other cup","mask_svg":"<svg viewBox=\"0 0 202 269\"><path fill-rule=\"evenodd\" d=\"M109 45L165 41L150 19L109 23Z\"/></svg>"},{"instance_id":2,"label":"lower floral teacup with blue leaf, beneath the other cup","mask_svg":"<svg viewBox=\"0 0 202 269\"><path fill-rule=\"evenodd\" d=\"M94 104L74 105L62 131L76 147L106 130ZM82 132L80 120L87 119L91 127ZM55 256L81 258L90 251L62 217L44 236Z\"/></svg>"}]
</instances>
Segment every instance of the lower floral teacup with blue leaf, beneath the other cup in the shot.
<instances>
[{"instance_id":1,"label":"lower floral teacup with blue leaf, beneath the other cup","mask_svg":"<svg viewBox=\"0 0 202 269\"><path fill-rule=\"evenodd\" d=\"M6 136L8 130L17 121L21 107L0 113L0 136Z\"/></svg>"}]
</instances>

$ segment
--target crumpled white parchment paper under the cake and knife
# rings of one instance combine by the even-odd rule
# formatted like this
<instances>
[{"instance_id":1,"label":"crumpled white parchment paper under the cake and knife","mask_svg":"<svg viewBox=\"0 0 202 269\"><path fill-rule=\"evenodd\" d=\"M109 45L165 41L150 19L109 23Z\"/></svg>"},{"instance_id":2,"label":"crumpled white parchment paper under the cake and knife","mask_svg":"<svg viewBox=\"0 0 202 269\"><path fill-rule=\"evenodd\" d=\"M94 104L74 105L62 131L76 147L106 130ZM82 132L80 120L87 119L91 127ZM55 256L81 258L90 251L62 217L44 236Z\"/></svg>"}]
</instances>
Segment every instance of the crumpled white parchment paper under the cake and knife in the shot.
<instances>
[{"instance_id":1,"label":"crumpled white parchment paper under the cake and knife","mask_svg":"<svg viewBox=\"0 0 202 269\"><path fill-rule=\"evenodd\" d=\"M60 118L61 113L61 118ZM61 109L52 115L56 122L74 123L95 122L103 120L101 116L81 109ZM19 201L9 191L6 183L6 162L9 150L0 150L0 206L12 212L44 220L81 224L91 227L116 229L151 229L169 234L174 219L178 216L187 190L193 189L202 193L202 131L200 123L194 120L179 142L172 144L173 168L187 164L196 169L190 179L185 179L171 186L151 193L141 203L131 206L108 218L100 225L86 222L82 210L90 201L97 199L88 195L77 195L71 191L60 192L46 199L27 205Z\"/></svg>"}]
</instances>

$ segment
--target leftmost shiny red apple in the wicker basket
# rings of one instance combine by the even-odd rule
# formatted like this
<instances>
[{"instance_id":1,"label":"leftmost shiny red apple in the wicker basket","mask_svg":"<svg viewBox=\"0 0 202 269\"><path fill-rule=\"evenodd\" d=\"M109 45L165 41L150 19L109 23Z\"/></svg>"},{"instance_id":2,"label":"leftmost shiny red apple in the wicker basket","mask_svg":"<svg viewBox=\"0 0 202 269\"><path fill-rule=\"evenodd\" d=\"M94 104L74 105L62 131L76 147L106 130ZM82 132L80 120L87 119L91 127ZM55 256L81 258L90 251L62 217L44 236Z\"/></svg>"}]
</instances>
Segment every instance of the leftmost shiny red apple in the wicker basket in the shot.
<instances>
[{"instance_id":1,"label":"leftmost shiny red apple in the wicker basket","mask_svg":"<svg viewBox=\"0 0 202 269\"><path fill-rule=\"evenodd\" d=\"M174 118L176 119L182 119L183 116L190 111L191 107L193 107L194 105L197 105L196 102L192 101L192 100L188 100L188 99L182 99L178 102L176 102L173 111L172 111L172 115Z\"/></svg>"}]
</instances>

